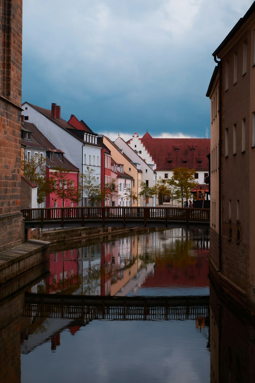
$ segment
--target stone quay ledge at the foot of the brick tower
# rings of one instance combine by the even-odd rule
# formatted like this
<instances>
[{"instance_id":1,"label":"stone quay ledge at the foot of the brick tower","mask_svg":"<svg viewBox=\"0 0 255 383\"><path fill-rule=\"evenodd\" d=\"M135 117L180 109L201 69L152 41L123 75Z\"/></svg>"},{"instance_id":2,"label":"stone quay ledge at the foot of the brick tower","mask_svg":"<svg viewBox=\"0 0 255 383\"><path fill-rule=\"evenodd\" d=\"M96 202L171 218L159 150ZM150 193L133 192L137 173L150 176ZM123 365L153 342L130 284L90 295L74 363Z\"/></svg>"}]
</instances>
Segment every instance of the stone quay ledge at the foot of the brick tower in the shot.
<instances>
[{"instance_id":1,"label":"stone quay ledge at the foot of the brick tower","mask_svg":"<svg viewBox=\"0 0 255 383\"><path fill-rule=\"evenodd\" d=\"M41 264L49 257L49 242L29 241L0 252L0 284Z\"/></svg>"}]
</instances>

